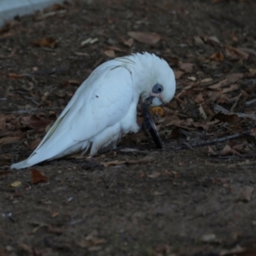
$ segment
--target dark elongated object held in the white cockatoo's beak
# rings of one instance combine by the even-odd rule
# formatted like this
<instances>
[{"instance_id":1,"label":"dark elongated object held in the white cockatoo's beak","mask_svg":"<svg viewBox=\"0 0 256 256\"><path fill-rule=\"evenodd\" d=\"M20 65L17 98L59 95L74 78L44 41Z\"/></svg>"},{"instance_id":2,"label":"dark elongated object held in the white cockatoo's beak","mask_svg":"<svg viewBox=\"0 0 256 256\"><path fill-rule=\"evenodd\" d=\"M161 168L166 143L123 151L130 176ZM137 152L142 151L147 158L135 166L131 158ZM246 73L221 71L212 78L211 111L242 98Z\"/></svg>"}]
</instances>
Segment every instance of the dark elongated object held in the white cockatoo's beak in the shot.
<instances>
[{"instance_id":1,"label":"dark elongated object held in the white cockatoo's beak","mask_svg":"<svg viewBox=\"0 0 256 256\"><path fill-rule=\"evenodd\" d=\"M151 137L154 140L154 144L156 148L163 148L163 144L161 142L160 136L158 134L158 131L156 131L155 129L154 121L149 112L149 106L152 103L153 99L154 99L154 96L150 96L146 99L145 102L141 104L142 113L143 113L142 130L146 137L148 135L148 132L150 133Z\"/></svg>"}]
</instances>

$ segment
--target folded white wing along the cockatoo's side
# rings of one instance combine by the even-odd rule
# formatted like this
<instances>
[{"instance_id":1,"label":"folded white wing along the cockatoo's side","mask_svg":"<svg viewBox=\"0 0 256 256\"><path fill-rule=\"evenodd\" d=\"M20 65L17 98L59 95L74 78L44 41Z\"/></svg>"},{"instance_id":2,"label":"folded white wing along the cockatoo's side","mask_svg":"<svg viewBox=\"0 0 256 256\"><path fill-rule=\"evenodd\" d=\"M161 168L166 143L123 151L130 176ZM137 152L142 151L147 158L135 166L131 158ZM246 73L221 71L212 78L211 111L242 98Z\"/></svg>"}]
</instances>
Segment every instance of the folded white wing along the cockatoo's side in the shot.
<instances>
[{"instance_id":1,"label":"folded white wing along the cockatoo's side","mask_svg":"<svg viewBox=\"0 0 256 256\"><path fill-rule=\"evenodd\" d=\"M88 140L115 125L128 112L133 93L131 73L125 67L97 68L76 91L34 153L54 147L55 154L60 154L72 143Z\"/></svg>"}]
</instances>

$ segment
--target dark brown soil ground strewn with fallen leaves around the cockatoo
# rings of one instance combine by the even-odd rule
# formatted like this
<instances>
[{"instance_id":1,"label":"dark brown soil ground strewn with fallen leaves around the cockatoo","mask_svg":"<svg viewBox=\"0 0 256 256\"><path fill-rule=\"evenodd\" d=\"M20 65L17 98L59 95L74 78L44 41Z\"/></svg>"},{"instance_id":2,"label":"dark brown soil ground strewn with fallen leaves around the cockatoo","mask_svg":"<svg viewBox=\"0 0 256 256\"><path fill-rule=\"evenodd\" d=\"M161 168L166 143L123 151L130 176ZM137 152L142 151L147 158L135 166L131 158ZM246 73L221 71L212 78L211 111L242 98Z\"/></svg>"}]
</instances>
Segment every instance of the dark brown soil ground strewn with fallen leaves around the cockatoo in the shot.
<instances>
[{"instance_id":1,"label":"dark brown soil ground strewn with fallen leaves around the cockatoo","mask_svg":"<svg viewBox=\"0 0 256 256\"><path fill-rule=\"evenodd\" d=\"M183 125L178 137L163 137L163 149L143 134L130 135L119 150L94 159L76 156L9 170L10 163L32 153L79 84L113 54L153 52L176 71L192 63L188 74L176 73L177 94L195 78L250 71L236 81L237 112L246 112L243 96L255 98L255 9L254 1L84 1L3 26L0 128L2 138L12 139L0 144L0 255L256 255L254 146L250 154L226 156L209 154L208 146L177 148L192 132L206 132L185 133ZM128 46L131 31L156 32L161 39ZM42 38L50 39L44 44ZM87 38L97 41L82 45ZM227 45L250 51L232 59ZM218 61L201 61L216 52L224 60L219 54L212 57ZM198 108L183 108L184 102L189 100L175 98L166 109L201 119ZM221 127L207 136L217 137ZM237 144L247 144L238 137ZM219 140L214 147L224 145ZM126 163L101 165L116 160ZM32 169L46 182L34 183Z\"/></svg>"}]
</instances>

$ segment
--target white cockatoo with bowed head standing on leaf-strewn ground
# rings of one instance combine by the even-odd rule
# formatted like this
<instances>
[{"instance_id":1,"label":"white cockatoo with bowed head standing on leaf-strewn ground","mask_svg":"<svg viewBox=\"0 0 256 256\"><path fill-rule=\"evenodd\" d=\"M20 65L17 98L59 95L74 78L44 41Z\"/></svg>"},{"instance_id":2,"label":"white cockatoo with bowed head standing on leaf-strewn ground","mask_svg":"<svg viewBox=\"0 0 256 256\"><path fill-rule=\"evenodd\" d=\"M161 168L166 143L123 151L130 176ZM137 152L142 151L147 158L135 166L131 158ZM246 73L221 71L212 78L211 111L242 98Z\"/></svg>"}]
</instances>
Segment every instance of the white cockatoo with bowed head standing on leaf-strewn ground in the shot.
<instances>
[{"instance_id":1,"label":"white cockatoo with bowed head standing on leaf-strewn ground","mask_svg":"<svg viewBox=\"0 0 256 256\"><path fill-rule=\"evenodd\" d=\"M73 95L32 154L11 169L34 166L67 154L101 154L123 134L139 131L137 103L170 102L176 89L172 68L154 54L133 54L96 67Z\"/></svg>"}]
</instances>

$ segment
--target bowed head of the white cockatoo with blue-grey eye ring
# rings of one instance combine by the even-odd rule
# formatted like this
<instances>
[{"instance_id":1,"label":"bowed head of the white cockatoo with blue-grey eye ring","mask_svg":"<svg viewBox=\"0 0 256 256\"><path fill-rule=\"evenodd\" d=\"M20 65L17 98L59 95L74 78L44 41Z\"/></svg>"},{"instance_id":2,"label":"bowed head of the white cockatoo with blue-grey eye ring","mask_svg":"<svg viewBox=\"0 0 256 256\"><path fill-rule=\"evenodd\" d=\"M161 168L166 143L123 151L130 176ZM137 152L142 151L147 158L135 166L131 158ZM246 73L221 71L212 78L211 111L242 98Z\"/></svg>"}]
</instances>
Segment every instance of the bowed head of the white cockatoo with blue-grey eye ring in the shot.
<instances>
[{"instance_id":1,"label":"bowed head of the white cockatoo with blue-grey eye ring","mask_svg":"<svg viewBox=\"0 0 256 256\"><path fill-rule=\"evenodd\" d=\"M148 70L146 90L143 90L142 101L150 107L170 102L176 90L176 82L172 68L166 61L155 55Z\"/></svg>"}]
</instances>

